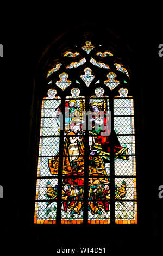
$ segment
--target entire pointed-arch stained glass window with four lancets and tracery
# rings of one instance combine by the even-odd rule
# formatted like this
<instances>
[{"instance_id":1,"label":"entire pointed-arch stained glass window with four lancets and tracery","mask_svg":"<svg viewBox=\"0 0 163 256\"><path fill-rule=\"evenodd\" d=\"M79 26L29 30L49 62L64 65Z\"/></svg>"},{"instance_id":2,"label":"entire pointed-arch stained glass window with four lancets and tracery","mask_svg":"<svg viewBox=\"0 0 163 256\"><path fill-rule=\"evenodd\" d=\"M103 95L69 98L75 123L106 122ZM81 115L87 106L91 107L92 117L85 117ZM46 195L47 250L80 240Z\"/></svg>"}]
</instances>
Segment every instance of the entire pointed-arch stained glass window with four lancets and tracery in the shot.
<instances>
[{"instance_id":1,"label":"entire pointed-arch stained glass window with four lancets and tracery","mask_svg":"<svg viewBox=\"0 0 163 256\"><path fill-rule=\"evenodd\" d=\"M41 103L34 223L136 224L134 100L127 68L91 41L63 52L62 64L47 73Z\"/></svg>"}]
</instances>

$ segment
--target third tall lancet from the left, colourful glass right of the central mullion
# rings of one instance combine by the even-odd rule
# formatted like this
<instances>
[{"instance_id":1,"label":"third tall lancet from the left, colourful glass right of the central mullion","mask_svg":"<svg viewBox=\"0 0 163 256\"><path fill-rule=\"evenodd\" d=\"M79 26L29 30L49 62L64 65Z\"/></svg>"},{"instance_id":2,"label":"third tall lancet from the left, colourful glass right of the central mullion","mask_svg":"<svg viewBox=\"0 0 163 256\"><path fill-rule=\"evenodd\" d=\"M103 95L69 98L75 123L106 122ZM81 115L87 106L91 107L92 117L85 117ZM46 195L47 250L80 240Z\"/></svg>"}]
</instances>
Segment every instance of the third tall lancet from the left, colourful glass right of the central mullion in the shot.
<instances>
[{"instance_id":1,"label":"third tall lancet from the left, colourful glass right of the central mullion","mask_svg":"<svg viewBox=\"0 0 163 256\"><path fill-rule=\"evenodd\" d=\"M109 224L110 223L110 162L109 156L100 149L98 141L101 140L101 124L106 124L106 112L109 111L109 99L103 96L104 89L95 89L96 96L90 98L90 111L93 114L94 123L90 130L89 147L89 224ZM102 97L105 97L104 99ZM99 115L99 113L103 115ZM95 123L99 123L98 129ZM104 130L105 130L104 125ZM105 156L104 156L105 155ZM105 158L105 163L103 161Z\"/></svg>"}]
</instances>

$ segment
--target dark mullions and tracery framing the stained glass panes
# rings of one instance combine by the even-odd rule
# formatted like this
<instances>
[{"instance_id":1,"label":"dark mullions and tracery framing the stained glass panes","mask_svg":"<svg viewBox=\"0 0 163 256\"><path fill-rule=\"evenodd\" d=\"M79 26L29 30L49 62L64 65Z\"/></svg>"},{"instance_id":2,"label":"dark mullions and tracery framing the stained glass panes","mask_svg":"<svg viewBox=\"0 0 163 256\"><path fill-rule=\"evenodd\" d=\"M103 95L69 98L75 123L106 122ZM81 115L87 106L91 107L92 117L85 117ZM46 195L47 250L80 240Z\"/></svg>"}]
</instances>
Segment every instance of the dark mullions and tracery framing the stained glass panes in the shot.
<instances>
[{"instance_id":1,"label":"dark mullions and tracery framing the stained glass panes","mask_svg":"<svg viewBox=\"0 0 163 256\"><path fill-rule=\"evenodd\" d=\"M91 41L91 40L90 40ZM93 43L92 43L93 44ZM96 47L95 47L96 48ZM75 49L76 50L76 49ZM106 50L106 49L105 49ZM71 50L72 51L72 50ZM93 50L92 50L93 51ZM94 52L95 53L97 53L99 51L99 48L97 47L97 49L96 49L96 51L94 50ZM95 56L95 54L94 54L94 56ZM82 56L83 57L83 56ZM86 53L85 53L85 57L87 57L87 59L88 60L90 60L90 55L86 55ZM68 57L69 58L69 62L70 62L70 57ZM75 57L75 58L72 58L72 61L75 61L74 59L79 59L79 57L77 56L77 57ZM99 57L99 60L101 60L101 62L104 62L104 60L102 60L102 58L101 57ZM116 61L114 61L114 62L116 62ZM105 62L104 62L105 63ZM108 61L105 63L106 65L108 64L108 65L110 65L110 60L108 59ZM66 64L67 65L67 64ZM65 66L66 66L65 65ZM89 65L87 65L87 62L86 63L84 63L82 66L80 66L80 67L78 67L77 68L77 70L74 72L74 74L75 74L75 76L73 77L73 82L72 82L72 84L70 85L70 86L68 86L66 89L65 89L65 91L62 91L60 88L58 88L57 86L56 86L56 84L55 84L55 82L57 81L56 80L56 77L60 74L60 72L62 72L62 71L57 71L57 72L55 72L54 74L52 74L48 79L47 79L47 81L46 80L44 80L43 81L43 86L45 86L45 83L46 83L46 87L44 87L44 92L42 93L42 95L40 95L40 99L39 99L39 106L41 106L41 103L42 103L42 96L43 97L46 97L47 96L47 91L48 91L48 89L51 89L51 88L53 88L53 89L55 89L55 90L57 90L57 96L60 96L60 98L61 98L61 112L63 111L63 113L64 113L64 104L62 103L62 102L65 102L65 99L66 99L66 96L69 96L69 95L71 95L71 93L70 93L70 91L71 91L71 89L72 88L79 88L80 89L80 95L82 95L82 96L84 96L85 97L85 100L86 100L86 108L87 109L89 109L89 99L90 99L90 96L91 96L91 94L92 94L92 89L95 91L95 89L96 88L98 88L98 87L101 87L101 88L103 88L104 90L105 90L105 93L104 93L104 95L105 96L109 96L109 101L110 101L110 111L112 112L112 115L111 115L111 129L114 129L114 111L113 111L113 108L114 108L114 106L113 106L113 101L114 101L114 97L115 96L117 96L118 95L118 90L120 89L120 88L122 88L122 87L125 87L125 88L127 88L128 90L129 90L129 92L130 92L130 82L128 83L128 84L124 84L124 83L122 83L122 82L120 82L120 84L114 89L114 90L109 90L108 89L108 87L106 87L105 86L105 84L104 83L102 83L102 82L100 82L100 83L97 83L96 84L96 82L100 79L101 80L101 77L102 77L102 75L101 74L99 74L98 72L97 72L97 77L95 78L95 81L92 81L92 83L90 84L90 86L89 87L86 87L85 86L85 84L84 84L84 82L82 81L82 80L80 80L80 87L79 87L79 84L77 84L77 83L74 83L74 80L77 80L76 78L77 78L77 75L78 74L83 74L83 70L86 68L86 67L89 67L89 68L91 68L91 70L92 70L92 74L94 73L94 74L96 74L96 72L97 72L97 68L96 68L96 66L93 66L91 63L89 63ZM114 69L115 67L113 67L113 68L111 68L111 71L112 72L115 72L115 74L117 74L117 70L116 69ZM102 69L102 68L101 68ZM70 80L72 80L72 71L73 71L74 69L70 69L70 73L68 72L68 74L70 74L70 76L68 76L68 79L70 78ZM67 70L67 71L69 71L69 70ZM105 73L105 77L106 77L106 74L108 73L108 72L111 72L110 70L104 70L104 72L103 72L103 74ZM78 74L77 74L78 73ZM118 78L116 77L116 79L118 80L118 81L120 81L120 80L122 80L123 79L123 75L120 73L120 71L118 71ZM49 81L51 80L51 78L52 78L52 83L51 84L49 84ZM79 77L78 77L79 78ZM85 89L87 89L87 91L85 90ZM130 95L130 93L129 93L129 95ZM100 99L100 98L99 98ZM134 101L134 97L133 97L133 101ZM41 107L40 107L41 108ZM41 111L40 111L41 112ZM135 118L135 102L134 102L134 118ZM40 120L40 115L38 115L38 120ZM40 128L40 126L39 126L39 128ZM39 132L38 133L40 133L40 130L39 130ZM86 136L86 138L88 138L88 136L89 136L89 134L86 132L86 134L85 134L85 136ZM111 135L110 135L111 136ZM39 136L38 136L39 137ZM136 127L135 127L135 137L136 137ZM112 140L112 138L110 137L110 139ZM86 140L85 140L86 141ZM136 141L136 139L135 139L135 141ZM60 132L60 145L59 145L59 151L62 151L62 145L64 144L63 143L64 142L64 131L61 131ZM37 144L38 144L38 139L37 139ZM135 143L136 144L136 143ZM135 147L137 147L137 144L135 145ZM85 147L85 149L86 149L86 152L88 152L88 145L86 145L86 147ZM112 147L112 144L111 144L111 151L113 152L113 147ZM87 154L85 154L85 155L87 155ZM85 156L85 158L86 158L86 156ZM60 156L60 159L62 160L62 156ZM136 155L136 159L137 159L137 155ZM60 160L60 167L59 167L59 169L61 170L62 169L62 161ZM87 163L87 160L85 159L85 163ZM115 181L115 173L114 173L114 154L111 154L110 155L110 170L111 170L111 172L110 172L110 180L112 180L111 182L110 182L110 196L111 196L111 198L110 198L110 204L112 205L112 211L110 211L110 224L109 225L115 225L115 217L114 217L114 181ZM137 161L136 161L136 166L137 166ZM37 169L37 168L36 168ZM137 169L137 168L136 168ZM61 180L62 180L62 175L61 175L61 172L59 172L60 173L60 175L58 176L58 181L59 181L59 183L61 184ZM128 176L127 176L128 177ZM135 176L135 178L137 178L137 170L136 170L136 176ZM37 178L36 178L37 179ZM84 175L84 179L88 179L88 176L87 176L87 173L85 172L85 175ZM87 186L87 182L86 182L86 186ZM137 186L137 181L136 181L136 186ZM35 186L36 187L36 186ZM60 191L59 191L59 194L61 195L61 186L59 186L59 189L60 189ZM59 198L59 197L58 197ZM87 223L87 220L86 220L86 213L87 213L87 200L86 200L86 198L87 197L85 197L85 213L84 213L84 226L85 225L88 225L88 223ZM60 209L61 209L61 200L60 199L58 199L58 202L57 202L57 225L60 225L60 219L59 219L59 215L60 215ZM66 224L64 224L64 225L66 225ZM70 225L70 224L68 224L68 225ZM75 225L75 224L72 224L72 225ZM78 224L77 224L78 225ZM93 224L93 225L96 225L96 224ZM99 224L97 224L97 225L99 225ZM101 225L105 225L105 224L101 224Z\"/></svg>"}]
</instances>

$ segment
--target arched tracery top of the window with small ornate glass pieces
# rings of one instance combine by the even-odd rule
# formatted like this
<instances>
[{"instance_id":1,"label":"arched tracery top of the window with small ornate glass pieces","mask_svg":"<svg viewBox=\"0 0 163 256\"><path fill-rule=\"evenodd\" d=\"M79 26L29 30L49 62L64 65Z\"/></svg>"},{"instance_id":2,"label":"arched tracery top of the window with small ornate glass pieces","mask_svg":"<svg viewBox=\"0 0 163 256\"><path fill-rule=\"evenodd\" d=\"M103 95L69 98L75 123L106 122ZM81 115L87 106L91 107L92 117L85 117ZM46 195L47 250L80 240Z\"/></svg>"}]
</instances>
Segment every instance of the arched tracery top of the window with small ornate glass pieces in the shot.
<instances>
[{"instance_id":1,"label":"arched tracery top of the window with small ornate glass pieces","mask_svg":"<svg viewBox=\"0 0 163 256\"><path fill-rule=\"evenodd\" d=\"M74 48L77 50L75 51ZM68 80L72 70L79 70L76 83L80 83L79 80L82 78L87 87L96 78L93 73L102 72L100 83L114 90L120 83L121 85L130 83L129 70L120 62L120 58L104 50L104 46L95 46L91 41L85 41L83 45L73 44L72 49L60 54L57 62L47 71L46 78L48 82L53 78L55 84L65 90L72 84L72 81Z\"/></svg>"}]
</instances>

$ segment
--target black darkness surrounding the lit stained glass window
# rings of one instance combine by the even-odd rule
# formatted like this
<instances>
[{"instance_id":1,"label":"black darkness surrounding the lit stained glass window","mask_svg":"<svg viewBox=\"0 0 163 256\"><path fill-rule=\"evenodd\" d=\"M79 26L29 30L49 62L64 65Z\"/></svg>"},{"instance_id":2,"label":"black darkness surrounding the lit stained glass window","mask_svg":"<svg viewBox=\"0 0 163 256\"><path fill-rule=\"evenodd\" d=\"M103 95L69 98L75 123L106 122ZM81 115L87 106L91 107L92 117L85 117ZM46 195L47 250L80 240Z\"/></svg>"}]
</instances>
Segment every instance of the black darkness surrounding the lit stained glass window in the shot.
<instances>
[{"instance_id":1,"label":"black darkness surrounding the lit stained glass window","mask_svg":"<svg viewBox=\"0 0 163 256\"><path fill-rule=\"evenodd\" d=\"M80 7L80 4L82 5ZM5 249L35 249L55 254L56 248L111 247L127 253L161 246L162 203L162 68L158 46L163 42L160 8L133 4L130 9L108 4L47 4L42 11L26 4L10 5L1 17L1 172L4 188L1 207L1 241ZM73 6L73 8L72 8ZM86 9L86 6L89 9ZM134 87L140 92L139 124L139 224L114 229L35 227L33 220L34 173L27 167L30 107L37 64L46 46L65 30L106 28L131 48ZM107 37L107 34L106 34Z\"/></svg>"}]
</instances>

